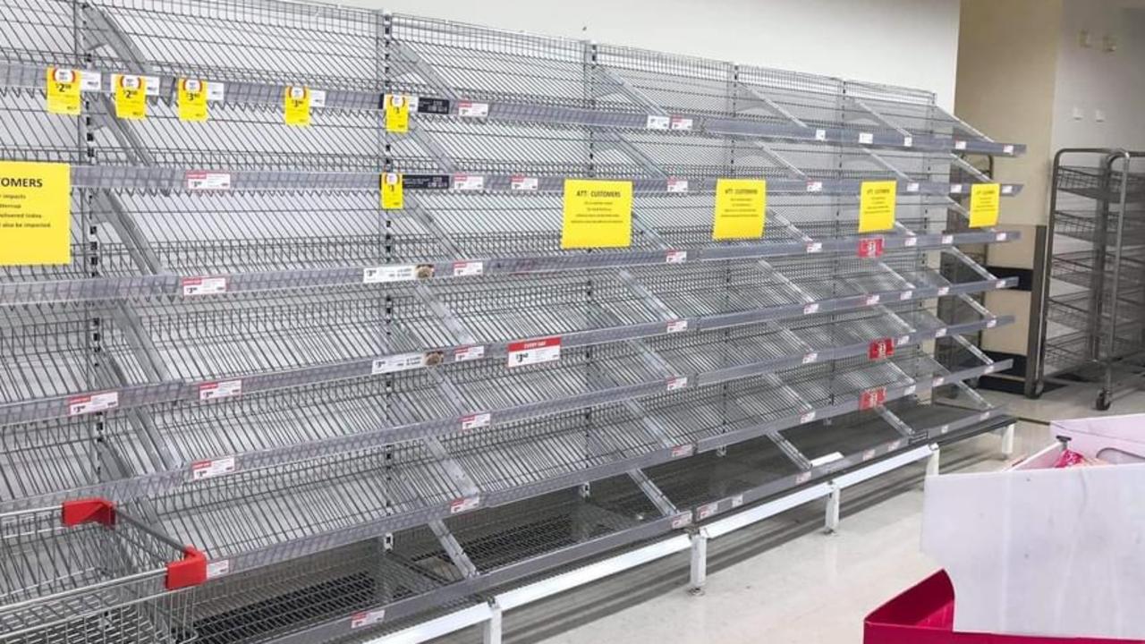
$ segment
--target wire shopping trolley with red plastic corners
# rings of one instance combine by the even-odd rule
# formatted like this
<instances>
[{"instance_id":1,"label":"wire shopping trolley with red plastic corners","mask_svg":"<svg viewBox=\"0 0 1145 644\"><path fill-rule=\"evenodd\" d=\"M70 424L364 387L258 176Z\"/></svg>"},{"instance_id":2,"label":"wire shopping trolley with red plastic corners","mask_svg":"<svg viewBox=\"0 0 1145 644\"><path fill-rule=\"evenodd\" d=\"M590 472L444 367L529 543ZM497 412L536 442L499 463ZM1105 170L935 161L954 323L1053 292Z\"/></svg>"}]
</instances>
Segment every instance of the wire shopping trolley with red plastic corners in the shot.
<instances>
[{"instance_id":1,"label":"wire shopping trolley with red plastic corners","mask_svg":"<svg viewBox=\"0 0 1145 644\"><path fill-rule=\"evenodd\" d=\"M206 558L103 500L0 515L0 642L192 642Z\"/></svg>"}]
</instances>

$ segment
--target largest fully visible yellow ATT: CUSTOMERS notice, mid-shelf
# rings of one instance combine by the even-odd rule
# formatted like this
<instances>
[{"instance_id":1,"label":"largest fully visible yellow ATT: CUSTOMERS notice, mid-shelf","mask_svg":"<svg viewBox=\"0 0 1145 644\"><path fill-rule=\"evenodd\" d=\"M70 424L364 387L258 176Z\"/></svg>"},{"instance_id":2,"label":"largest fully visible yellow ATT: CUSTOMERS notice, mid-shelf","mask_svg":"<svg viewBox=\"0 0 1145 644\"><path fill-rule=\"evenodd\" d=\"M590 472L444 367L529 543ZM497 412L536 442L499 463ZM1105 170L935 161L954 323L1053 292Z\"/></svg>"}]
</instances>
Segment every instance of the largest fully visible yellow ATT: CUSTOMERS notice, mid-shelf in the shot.
<instances>
[{"instance_id":1,"label":"largest fully visible yellow ATT: CUSTOMERS notice, mid-shelf","mask_svg":"<svg viewBox=\"0 0 1145 644\"><path fill-rule=\"evenodd\" d=\"M632 182L564 180L562 249L632 245Z\"/></svg>"}]
</instances>

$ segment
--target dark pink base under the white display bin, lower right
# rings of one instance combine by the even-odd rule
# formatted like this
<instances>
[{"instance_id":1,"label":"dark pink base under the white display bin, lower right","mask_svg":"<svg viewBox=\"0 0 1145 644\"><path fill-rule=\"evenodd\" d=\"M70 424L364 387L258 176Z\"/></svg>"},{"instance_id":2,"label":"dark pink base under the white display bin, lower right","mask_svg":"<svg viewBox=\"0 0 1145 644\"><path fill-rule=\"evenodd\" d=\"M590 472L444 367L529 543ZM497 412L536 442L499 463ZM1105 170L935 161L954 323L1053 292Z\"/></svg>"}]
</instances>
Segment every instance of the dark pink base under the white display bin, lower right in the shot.
<instances>
[{"instance_id":1,"label":"dark pink base under the white display bin, lower right","mask_svg":"<svg viewBox=\"0 0 1145 644\"><path fill-rule=\"evenodd\" d=\"M883 604L863 622L863 644L1145 644L1140 639L954 631L954 586L945 571Z\"/></svg>"}]
</instances>

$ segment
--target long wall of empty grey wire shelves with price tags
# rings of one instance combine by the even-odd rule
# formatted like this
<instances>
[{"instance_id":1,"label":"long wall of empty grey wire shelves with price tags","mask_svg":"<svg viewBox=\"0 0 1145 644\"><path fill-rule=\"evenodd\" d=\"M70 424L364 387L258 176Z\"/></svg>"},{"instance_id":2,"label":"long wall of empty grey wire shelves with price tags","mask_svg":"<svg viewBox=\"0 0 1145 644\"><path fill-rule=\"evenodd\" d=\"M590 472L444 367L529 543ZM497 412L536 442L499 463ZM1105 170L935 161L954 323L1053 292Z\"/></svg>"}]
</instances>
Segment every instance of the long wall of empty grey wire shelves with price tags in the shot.
<instances>
[{"instance_id":1,"label":"long wall of empty grey wire shelves with price tags","mask_svg":"<svg viewBox=\"0 0 1145 644\"><path fill-rule=\"evenodd\" d=\"M1009 423L965 336L1013 280L958 246L1017 234L949 226L986 182L950 176L1024 148L929 93L327 5L0 14L2 157L70 164L73 221L70 264L0 267L0 512L194 544L202 642L369 631ZM568 178L631 181L631 248L561 249ZM767 180L761 238L712 241L720 178ZM859 234L869 180L898 218Z\"/></svg>"}]
</instances>

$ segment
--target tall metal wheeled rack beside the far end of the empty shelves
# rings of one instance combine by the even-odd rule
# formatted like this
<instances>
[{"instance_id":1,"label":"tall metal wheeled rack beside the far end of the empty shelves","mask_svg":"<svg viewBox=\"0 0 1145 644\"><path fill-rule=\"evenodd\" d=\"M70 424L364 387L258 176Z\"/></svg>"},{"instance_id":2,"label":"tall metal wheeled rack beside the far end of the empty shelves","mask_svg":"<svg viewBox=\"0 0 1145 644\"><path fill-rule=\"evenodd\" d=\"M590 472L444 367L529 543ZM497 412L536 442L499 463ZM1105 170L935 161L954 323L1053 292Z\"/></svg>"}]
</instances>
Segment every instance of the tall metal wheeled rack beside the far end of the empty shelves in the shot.
<instances>
[{"instance_id":1,"label":"tall metal wheeled rack beside the far end of the empty shelves","mask_svg":"<svg viewBox=\"0 0 1145 644\"><path fill-rule=\"evenodd\" d=\"M1026 394L1050 379L1103 385L1095 407L1145 374L1145 152L1064 149L1035 258ZM1091 165L1090 165L1091 164Z\"/></svg>"}]
</instances>

